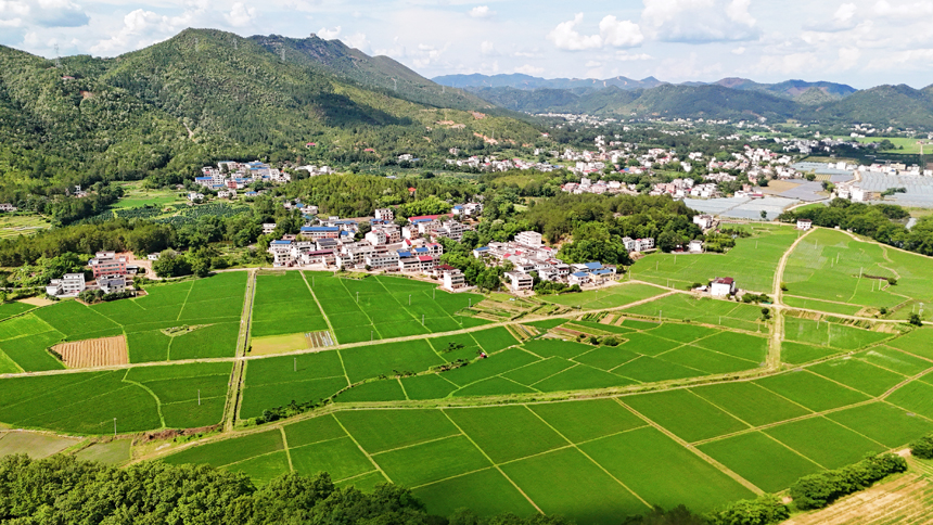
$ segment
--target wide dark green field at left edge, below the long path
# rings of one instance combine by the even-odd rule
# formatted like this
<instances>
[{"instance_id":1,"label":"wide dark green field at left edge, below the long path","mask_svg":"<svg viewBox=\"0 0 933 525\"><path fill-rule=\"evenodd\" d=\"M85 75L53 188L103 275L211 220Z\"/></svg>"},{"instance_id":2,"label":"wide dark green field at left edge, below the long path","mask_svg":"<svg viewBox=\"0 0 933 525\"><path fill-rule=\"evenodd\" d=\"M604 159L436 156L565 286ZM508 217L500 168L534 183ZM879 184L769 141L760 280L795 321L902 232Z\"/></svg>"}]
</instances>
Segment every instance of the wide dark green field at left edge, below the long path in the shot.
<instances>
[{"instance_id":1,"label":"wide dark green field at left edge, below the long path","mask_svg":"<svg viewBox=\"0 0 933 525\"><path fill-rule=\"evenodd\" d=\"M75 434L188 428L220 421L231 363L0 380L0 422ZM199 404L199 390L201 402Z\"/></svg>"}]
</instances>

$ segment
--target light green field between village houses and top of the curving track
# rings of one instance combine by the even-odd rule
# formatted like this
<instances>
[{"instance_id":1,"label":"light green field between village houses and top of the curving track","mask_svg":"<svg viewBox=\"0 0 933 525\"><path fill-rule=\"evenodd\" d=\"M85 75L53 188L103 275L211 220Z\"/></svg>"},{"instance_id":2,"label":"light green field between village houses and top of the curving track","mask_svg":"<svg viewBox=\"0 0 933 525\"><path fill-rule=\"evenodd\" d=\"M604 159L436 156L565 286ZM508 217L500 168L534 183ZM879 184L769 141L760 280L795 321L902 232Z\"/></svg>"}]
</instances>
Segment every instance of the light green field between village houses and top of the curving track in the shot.
<instances>
[{"instance_id":1,"label":"light green field between village houses and top of the curving track","mask_svg":"<svg viewBox=\"0 0 933 525\"><path fill-rule=\"evenodd\" d=\"M736 247L726 254L663 254L640 259L629 277L683 290L693 283L705 284L717 277L731 277L742 290L770 293L775 270L781 256L797 239L790 227L756 225L753 236L737 239Z\"/></svg>"}]
</instances>

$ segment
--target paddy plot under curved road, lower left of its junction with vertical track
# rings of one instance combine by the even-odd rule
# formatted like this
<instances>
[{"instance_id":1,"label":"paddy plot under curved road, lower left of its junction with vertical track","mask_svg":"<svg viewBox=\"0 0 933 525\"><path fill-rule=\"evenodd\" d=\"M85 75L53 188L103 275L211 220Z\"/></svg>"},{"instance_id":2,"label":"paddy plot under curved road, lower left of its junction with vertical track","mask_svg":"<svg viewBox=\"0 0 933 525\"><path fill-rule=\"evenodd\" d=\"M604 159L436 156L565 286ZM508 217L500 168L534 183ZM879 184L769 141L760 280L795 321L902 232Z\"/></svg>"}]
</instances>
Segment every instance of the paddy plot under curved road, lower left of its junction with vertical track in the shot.
<instances>
[{"instance_id":1,"label":"paddy plot under curved road, lower left of its junction with vertical track","mask_svg":"<svg viewBox=\"0 0 933 525\"><path fill-rule=\"evenodd\" d=\"M810 413L800 405L750 382L701 386L691 392L752 426Z\"/></svg>"}]
</instances>

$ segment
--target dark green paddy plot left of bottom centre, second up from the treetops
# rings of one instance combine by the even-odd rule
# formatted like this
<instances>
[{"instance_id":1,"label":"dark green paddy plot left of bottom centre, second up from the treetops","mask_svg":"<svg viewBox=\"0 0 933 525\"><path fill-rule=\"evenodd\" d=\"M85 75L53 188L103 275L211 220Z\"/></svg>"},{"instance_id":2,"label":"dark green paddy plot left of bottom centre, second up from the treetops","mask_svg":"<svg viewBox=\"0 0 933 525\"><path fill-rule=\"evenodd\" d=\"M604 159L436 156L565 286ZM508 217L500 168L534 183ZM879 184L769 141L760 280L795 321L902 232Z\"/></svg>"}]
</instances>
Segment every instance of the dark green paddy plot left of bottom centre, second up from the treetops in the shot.
<instances>
[{"instance_id":1,"label":"dark green paddy plot left of bottom centre, second up from the treetops","mask_svg":"<svg viewBox=\"0 0 933 525\"><path fill-rule=\"evenodd\" d=\"M393 483L410 488L491 466L463 436L374 454L373 459Z\"/></svg>"}]
</instances>

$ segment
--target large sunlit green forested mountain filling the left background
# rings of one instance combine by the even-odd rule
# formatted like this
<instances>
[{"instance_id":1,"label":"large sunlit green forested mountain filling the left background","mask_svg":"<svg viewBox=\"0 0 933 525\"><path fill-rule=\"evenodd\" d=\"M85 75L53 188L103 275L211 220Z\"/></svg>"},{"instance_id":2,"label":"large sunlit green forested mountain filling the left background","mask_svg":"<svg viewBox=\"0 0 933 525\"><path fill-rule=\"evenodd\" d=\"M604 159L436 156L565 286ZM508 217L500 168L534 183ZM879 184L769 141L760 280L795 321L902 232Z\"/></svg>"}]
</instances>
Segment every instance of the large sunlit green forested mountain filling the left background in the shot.
<instances>
[{"instance_id":1,"label":"large sunlit green forested mountain filling the left background","mask_svg":"<svg viewBox=\"0 0 933 525\"><path fill-rule=\"evenodd\" d=\"M61 67L0 47L0 202L95 181L175 183L221 158L378 164L451 146L482 151L482 136L493 133L516 143L540 137L504 110L446 108L461 99L460 107L491 106L388 59L341 55L353 50L306 39L289 41L283 61L260 40L187 29L114 59L66 57ZM330 59L315 62L312 44ZM346 60L365 74L337 74ZM395 77L409 100L367 87Z\"/></svg>"}]
</instances>

